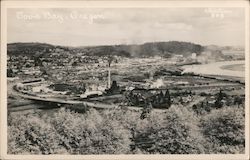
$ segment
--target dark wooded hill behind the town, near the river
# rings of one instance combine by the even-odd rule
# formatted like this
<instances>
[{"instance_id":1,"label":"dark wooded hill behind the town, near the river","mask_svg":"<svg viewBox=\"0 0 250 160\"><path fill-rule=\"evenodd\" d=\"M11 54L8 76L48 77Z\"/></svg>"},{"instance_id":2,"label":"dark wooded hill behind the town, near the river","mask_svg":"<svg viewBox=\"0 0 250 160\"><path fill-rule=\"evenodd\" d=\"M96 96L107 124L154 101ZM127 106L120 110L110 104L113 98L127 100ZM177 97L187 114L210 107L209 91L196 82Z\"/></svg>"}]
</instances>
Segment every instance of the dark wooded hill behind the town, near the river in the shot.
<instances>
[{"instance_id":1,"label":"dark wooded hill behind the town, near the river","mask_svg":"<svg viewBox=\"0 0 250 160\"><path fill-rule=\"evenodd\" d=\"M88 55L123 55L131 57L150 57L166 56L173 54L191 55L191 53L200 54L204 47L189 42L150 42L141 45L113 45L87 47Z\"/></svg>"}]
</instances>

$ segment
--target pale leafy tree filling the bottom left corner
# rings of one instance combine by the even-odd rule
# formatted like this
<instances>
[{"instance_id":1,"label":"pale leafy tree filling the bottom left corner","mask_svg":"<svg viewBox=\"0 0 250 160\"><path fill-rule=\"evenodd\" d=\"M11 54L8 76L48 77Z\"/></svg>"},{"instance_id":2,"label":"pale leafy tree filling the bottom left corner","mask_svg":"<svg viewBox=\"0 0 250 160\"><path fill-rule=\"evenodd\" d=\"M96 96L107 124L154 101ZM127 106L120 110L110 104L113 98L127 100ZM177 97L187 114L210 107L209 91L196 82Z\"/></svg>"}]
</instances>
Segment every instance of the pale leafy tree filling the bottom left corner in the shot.
<instances>
[{"instance_id":1,"label":"pale leafy tree filling the bottom left corner","mask_svg":"<svg viewBox=\"0 0 250 160\"><path fill-rule=\"evenodd\" d=\"M51 124L38 115L9 115L8 153L9 154L52 154L62 148L59 137Z\"/></svg>"}]
</instances>

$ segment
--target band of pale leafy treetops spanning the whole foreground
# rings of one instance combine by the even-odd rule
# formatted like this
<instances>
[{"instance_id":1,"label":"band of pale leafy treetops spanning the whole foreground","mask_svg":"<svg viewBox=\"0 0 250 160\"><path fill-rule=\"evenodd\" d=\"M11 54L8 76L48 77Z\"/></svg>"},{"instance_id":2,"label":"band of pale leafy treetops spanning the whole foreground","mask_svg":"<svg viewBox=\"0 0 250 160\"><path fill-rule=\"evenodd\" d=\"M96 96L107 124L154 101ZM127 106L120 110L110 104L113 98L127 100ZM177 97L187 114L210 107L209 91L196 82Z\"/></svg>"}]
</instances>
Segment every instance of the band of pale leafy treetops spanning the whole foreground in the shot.
<instances>
[{"instance_id":1,"label":"band of pale leafy treetops spanning the whole foreground","mask_svg":"<svg viewBox=\"0 0 250 160\"><path fill-rule=\"evenodd\" d=\"M8 115L9 154L244 153L244 109L225 107L205 116L183 106L142 111L112 109L52 115ZM18 114L18 115L17 115Z\"/></svg>"}]
</instances>

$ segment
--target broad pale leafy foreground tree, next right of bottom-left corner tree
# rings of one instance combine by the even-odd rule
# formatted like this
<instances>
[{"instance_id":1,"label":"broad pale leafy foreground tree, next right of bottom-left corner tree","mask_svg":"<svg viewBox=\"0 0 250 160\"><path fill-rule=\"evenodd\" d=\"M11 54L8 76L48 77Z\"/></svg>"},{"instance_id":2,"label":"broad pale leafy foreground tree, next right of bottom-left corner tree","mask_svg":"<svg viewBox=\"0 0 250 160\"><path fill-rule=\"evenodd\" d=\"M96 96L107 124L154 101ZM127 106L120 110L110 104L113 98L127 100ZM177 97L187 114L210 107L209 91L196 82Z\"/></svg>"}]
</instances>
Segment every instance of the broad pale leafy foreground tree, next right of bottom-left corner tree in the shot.
<instances>
[{"instance_id":1,"label":"broad pale leafy foreground tree, next right of bottom-left corner tree","mask_svg":"<svg viewBox=\"0 0 250 160\"><path fill-rule=\"evenodd\" d=\"M129 151L130 133L91 109L86 114L61 110L53 125L71 154L118 154ZM119 128L117 128L119 127Z\"/></svg>"}]
</instances>

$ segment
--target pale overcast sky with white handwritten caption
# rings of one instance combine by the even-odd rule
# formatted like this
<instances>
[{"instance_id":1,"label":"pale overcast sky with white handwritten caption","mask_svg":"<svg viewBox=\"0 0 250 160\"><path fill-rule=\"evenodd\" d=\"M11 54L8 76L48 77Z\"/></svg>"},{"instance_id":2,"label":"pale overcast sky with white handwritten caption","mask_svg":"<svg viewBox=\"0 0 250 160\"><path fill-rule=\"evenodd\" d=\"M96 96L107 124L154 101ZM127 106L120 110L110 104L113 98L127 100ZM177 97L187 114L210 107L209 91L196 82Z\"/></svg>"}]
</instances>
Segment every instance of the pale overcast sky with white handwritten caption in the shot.
<instances>
[{"instance_id":1,"label":"pale overcast sky with white handwritten caption","mask_svg":"<svg viewBox=\"0 0 250 160\"><path fill-rule=\"evenodd\" d=\"M242 8L8 9L8 43L244 46L244 17Z\"/></svg>"}]
</instances>

